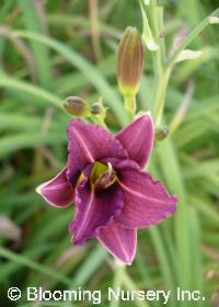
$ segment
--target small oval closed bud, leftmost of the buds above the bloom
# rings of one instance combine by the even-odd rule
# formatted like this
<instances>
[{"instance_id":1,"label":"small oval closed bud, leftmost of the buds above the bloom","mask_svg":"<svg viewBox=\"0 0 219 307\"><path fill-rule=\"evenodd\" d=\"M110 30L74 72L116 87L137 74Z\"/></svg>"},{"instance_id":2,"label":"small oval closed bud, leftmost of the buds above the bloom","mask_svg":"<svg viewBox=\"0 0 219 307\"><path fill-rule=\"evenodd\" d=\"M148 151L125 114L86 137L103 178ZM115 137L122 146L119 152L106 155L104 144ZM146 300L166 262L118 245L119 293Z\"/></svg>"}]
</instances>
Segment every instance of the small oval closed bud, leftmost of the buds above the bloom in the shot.
<instances>
[{"instance_id":1,"label":"small oval closed bud, leftmost of the buds above the bloom","mask_svg":"<svg viewBox=\"0 0 219 307\"><path fill-rule=\"evenodd\" d=\"M68 113L76 116L87 116L88 104L80 96L69 96L64 103L64 107Z\"/></svg>"}]
</instances>

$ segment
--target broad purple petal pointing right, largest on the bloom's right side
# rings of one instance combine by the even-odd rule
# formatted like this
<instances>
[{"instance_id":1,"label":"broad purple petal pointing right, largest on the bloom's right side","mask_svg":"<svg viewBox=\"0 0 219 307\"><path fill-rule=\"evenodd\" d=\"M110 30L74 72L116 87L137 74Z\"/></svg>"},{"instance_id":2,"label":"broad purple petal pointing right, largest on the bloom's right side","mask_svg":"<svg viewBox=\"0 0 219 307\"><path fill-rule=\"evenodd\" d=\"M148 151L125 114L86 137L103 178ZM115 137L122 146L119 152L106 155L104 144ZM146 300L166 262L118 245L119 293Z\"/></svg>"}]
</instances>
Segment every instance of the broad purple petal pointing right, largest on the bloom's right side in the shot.
<instances>
[{"instance_id":1,"label":"broad purple petal pointing right, largest on the bloom's right side","mask_svg":"<svg viewBox=\"0 0 219 307\"><path fill-rule=\"evenodd\" d=\"M119 174L124 208L115 220L120 226L130 229L149 227L175 212L177 197L170 195L149 173L127 169Z\"/></svg>"}]
</instances>

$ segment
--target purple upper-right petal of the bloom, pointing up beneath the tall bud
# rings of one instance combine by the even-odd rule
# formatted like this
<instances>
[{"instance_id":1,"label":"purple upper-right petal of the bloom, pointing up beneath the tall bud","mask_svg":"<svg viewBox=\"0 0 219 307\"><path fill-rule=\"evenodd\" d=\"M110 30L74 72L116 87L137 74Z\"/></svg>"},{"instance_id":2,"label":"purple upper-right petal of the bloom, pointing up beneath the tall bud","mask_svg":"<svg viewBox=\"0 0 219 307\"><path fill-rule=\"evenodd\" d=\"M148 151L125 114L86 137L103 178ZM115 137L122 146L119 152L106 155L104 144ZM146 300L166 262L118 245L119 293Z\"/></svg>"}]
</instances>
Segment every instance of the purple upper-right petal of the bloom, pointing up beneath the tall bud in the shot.
<instances>
[{"instance_id":1,"label":"purple upper-right petal of the bloom, pointing up beneath the tall bud","mask_svg":"<svg viewBox=\"0 0 219 307\"><path fill-rule=\"evenodd\" d=\"M153 146L153 122L149 114L138 117L120 130L116 138L127 149L129 158L143 167Z\"/></svg>"}]
</instances>

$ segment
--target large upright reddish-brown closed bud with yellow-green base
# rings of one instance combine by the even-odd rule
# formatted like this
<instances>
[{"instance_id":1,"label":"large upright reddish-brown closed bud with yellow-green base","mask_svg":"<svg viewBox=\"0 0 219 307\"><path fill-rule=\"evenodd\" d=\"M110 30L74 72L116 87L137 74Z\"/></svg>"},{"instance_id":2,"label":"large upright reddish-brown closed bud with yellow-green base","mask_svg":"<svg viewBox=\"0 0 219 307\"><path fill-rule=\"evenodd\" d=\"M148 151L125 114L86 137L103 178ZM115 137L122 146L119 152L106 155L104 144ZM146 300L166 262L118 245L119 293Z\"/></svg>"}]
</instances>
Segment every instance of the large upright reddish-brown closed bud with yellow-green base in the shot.
<instances>
[{"instance_id":1,"label":"large upright reddish-brown closed bud with yellow-green base","mask_svg":"<svg viewBox=\"0 0 219 307\"><path fill-rule=\"evenodd\" d=\"M117 58L118 87L124 96L135 96L140 86L143 46L136 27L128 26L120 39Z\"/></svg>"}]
</instances>

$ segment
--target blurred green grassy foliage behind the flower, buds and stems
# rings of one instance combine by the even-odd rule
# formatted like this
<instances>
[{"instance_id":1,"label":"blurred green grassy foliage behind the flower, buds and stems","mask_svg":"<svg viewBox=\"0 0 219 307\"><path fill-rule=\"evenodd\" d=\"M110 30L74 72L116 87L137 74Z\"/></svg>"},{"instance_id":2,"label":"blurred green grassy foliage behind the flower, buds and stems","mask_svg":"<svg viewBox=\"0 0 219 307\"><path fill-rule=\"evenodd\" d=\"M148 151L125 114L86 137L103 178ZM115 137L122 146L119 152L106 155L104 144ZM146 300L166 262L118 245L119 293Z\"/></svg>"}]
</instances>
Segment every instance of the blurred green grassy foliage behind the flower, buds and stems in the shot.
<instances>
[{"instance_id":1,"label":"blurred green grassy foliage behind the flower, buds and stems","mask_svg":"<svg viewBox=\"0 0 219 307\"><path fill-rule=\"evenodd\" d=\"M158 0L164 7L168 53L217 9L217 0ZM126 123L116 84L116 49L127 25L142 30L138 1L7 0L0 8L0 305L18 286L102 289L103 306L161 306L159 302L108 303L115 284L112 257L89 240L70 245L72 207L48 207L35 187L65 164L62 111L68 95L103 96L113 132ZM163 35L164 36L164 35ZM177 64L166 94L171 135L155 144L150 170L181 203L174 217L138 232L138 251L124 288L199 289L206 300L168 306L219 306L219 31L208 26L189 46L201 56ZM157 93L146 50L138 109L151 110ZM105 299L105 300L104 300ZM114 304L114 305L113 305ZM128 305L128 306L129 306ZM61 306L69 306L61 303ZM80 302L70 306L92 306Z\"/></svg>"}]
</instances>

